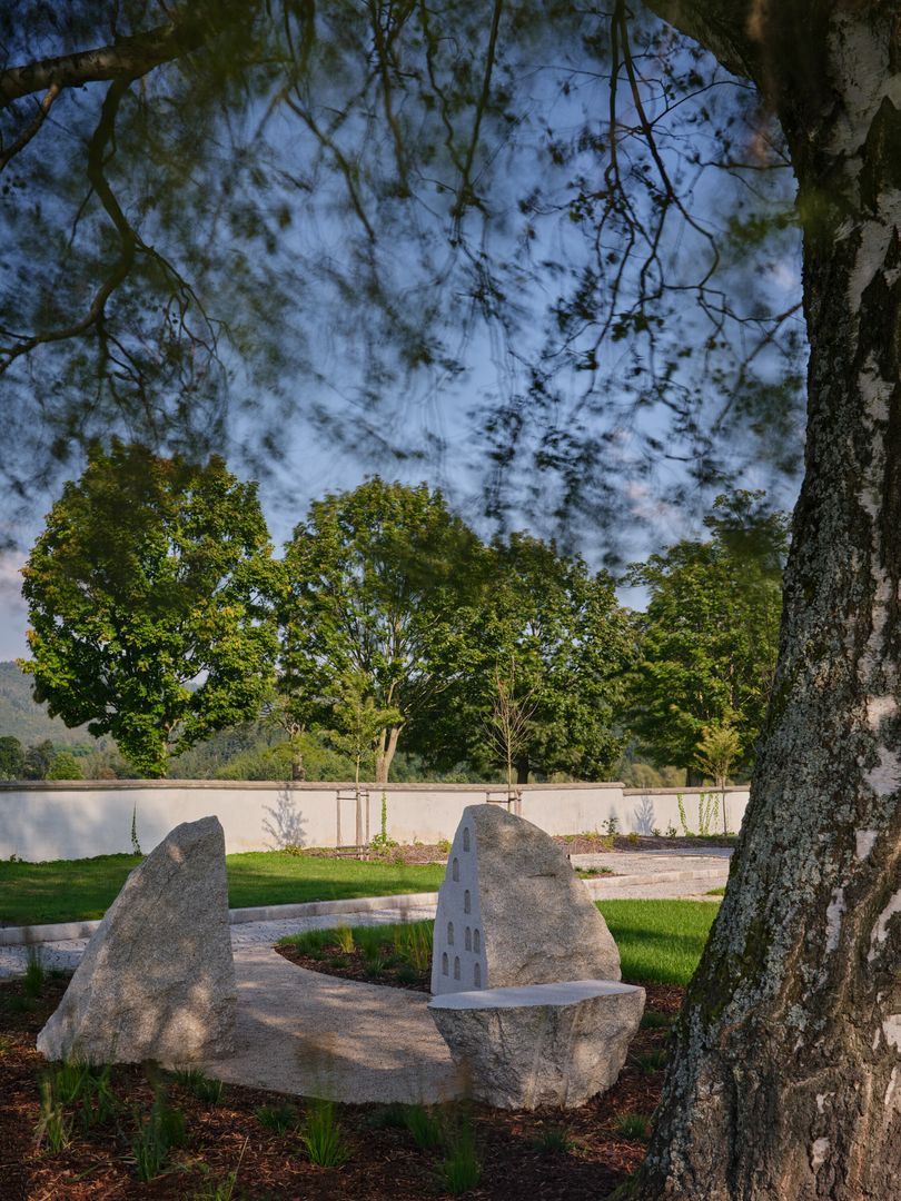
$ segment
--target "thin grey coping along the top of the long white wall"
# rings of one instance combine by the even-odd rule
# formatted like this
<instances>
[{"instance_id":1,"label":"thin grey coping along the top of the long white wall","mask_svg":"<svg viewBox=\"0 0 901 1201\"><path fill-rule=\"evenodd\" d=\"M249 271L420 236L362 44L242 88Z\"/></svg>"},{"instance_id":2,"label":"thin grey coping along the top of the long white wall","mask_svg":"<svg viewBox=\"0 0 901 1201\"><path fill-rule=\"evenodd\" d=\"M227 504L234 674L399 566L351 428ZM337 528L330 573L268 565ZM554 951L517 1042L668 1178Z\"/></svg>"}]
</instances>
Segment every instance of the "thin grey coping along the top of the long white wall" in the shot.
<instances>
[{"instance_id":1,"label":"thin grey coping along the top of the long white wall","mask_svg":"<svg viewBox=\"0 0 901 1201\"><path fill-rule=\"evenodd\" d=\"M617 791L622 790L622 784L616 781L604 781L598 783L585 783L585 782L572 782L566 784L518 784L519 789L524 793L562 793L572 790L597 790L598 788L610 788ZM280 782L275 779L2 779L0 781L0 793L94 793L94 791L133 791L136 789L165 789L165 788L215 788L221 791L237 790L237 791L284 791L288 789L290 791L308 791L308 793L329 793L336 789L353 789L356 784L353 781L340 781L340 779L314 779L314 781L286 781ZM408 783L388 783L388 784L366 784L362 783L360 788L369 789L370 793L485 793L490 791L493 794L506 793L507 789L503 784L444 784L444 783L429 783L428 781L422 781L418 784ZM643 789L632 789L632 791L644 791ZM667 789L657 789L657 791L667 791ZM673 789L678 791L678 789Z\"/></svg>"}]
</instances>

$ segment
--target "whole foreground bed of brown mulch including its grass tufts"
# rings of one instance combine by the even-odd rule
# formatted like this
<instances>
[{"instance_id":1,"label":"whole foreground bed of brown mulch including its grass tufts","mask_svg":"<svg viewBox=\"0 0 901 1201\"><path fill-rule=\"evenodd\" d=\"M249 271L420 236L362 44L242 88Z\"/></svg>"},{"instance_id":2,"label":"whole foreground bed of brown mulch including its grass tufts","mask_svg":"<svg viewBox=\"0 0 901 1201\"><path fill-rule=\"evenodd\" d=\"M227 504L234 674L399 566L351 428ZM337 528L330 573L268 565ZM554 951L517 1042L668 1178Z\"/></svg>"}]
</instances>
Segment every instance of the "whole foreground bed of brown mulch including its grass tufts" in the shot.
<instances>
[{"instance_id":1,"label":"whole foreground bed of brown mulch including its grass tufts","mask_svg":"<svg viewBox=\"0 0 901 1201\"><path fill-rule=\"evenodd\" d=\"M65 982L47 975L30 1006L22 981L0 984L2 1196L17 1201L602 1201L644 1155L622 1118L652 1112L662 1072L638 1058L668 1038L663 1021L643 1027L616 1086L566 1113L332 1105L237 1085L216 1100L196 1071L46 1063L35 1038ZM680 1000L649 986L654 1012Z\"/></svg>"}]
</instances>

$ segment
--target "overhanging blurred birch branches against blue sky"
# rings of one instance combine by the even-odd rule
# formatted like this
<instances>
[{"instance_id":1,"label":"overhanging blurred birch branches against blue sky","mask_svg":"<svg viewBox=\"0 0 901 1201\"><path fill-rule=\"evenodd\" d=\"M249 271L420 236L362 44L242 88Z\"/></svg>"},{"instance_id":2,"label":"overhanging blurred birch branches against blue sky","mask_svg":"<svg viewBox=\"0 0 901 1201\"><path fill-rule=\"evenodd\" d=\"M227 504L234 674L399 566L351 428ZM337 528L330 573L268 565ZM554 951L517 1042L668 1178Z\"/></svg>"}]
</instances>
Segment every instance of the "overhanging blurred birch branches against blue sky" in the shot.
<instances>
[{"instance_id":1,"label":"overhanging blurred birch branches against blue sky","mask_svg":"<svg viewBox=\"0 0 901 1201\"><path fill-rule=\"evenodd\" d=\"M463 428L491 512L608 542L621 485L661 458L724 478L777 438L796 464L784 142L644 11L28 0L0 19L0 378L41 462L127 429L195 458L231 434L258 470L288 417L435 459Z\"/></svg>"}]
</instances>

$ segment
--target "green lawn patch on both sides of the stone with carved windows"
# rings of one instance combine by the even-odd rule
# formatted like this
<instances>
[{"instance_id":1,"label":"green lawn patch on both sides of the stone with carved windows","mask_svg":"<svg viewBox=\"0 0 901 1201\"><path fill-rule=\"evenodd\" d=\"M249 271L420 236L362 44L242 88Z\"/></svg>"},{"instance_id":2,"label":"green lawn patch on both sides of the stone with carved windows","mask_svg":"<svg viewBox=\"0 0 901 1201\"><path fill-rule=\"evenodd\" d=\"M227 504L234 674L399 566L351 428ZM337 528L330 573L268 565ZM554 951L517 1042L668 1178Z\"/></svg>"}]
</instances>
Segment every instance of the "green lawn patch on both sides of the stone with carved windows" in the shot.
<instances>
[{"instance_id":1,"label":"green lawn patch on both sides of the stone with carved windows","mask_svg":"<svg viewBox=\"0 0 901 1201\"><path fill-rule=\"evenodd\" d=\"M622 978L637 984L687 985L698 966L710 926L720 907L710 901L603 901L598 909L616 939ZM430 957L432 921L408 926L352 926L345 930L346 951L357 946L377 964L406 963L423 973L423 954ZM311 930L280 939L311 958L334 955L328 946L334 930ZM375 972L374 974L377 974ZM428 978L425 978L428 979ZM392 979L390 982L394 982Z\"/></svg>"}]
</instances>

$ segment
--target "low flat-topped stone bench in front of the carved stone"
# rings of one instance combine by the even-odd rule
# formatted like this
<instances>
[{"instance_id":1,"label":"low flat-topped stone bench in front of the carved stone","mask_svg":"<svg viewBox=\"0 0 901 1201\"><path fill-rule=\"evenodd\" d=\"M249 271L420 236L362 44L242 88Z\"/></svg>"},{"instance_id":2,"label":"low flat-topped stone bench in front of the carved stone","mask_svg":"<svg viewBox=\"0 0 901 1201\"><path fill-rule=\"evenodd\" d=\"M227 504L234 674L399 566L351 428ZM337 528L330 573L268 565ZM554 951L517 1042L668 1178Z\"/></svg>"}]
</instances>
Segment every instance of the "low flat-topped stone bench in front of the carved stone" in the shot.
<instances>
[{"instance_id":1,"label":"low flat-topped stone bench in front of the carved stone","mask_svg":"<svg viewBox=\"0 0 901 1201\"><path fill-rule=\"evenodd\" d=\"M429 1012L472 1095L497 1109L573 1109L615 1083L644 988L575 980L435 997Z\"/></svg>"}]
</instances>

